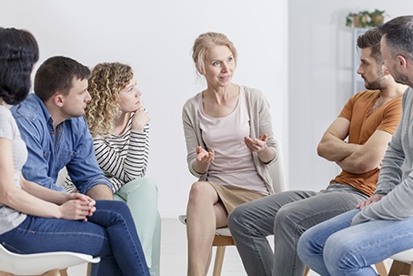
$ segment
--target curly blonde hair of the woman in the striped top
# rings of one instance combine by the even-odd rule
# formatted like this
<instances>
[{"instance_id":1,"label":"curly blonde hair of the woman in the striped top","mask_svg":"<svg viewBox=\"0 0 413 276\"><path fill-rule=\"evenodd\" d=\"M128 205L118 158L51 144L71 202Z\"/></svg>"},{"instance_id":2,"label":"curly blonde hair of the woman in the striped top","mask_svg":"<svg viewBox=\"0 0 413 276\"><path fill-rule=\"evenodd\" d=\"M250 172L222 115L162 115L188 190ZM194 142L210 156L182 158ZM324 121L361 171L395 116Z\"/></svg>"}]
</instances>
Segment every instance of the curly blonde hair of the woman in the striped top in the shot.
<instances>
[{"instance_id":1,"label":"curly blonde hair of the woman in the striped top","mask_svg":"<svg viewBox=\"0 0 413 276\"><path fill-rule=\"evenodd\" d=\"M86 107L86 120L92 137L107 136L115 128L120 112L119 92L134 77L131 66L121 63L101 63L89 78L91 101Z\"/></svg>"}]
</instances>

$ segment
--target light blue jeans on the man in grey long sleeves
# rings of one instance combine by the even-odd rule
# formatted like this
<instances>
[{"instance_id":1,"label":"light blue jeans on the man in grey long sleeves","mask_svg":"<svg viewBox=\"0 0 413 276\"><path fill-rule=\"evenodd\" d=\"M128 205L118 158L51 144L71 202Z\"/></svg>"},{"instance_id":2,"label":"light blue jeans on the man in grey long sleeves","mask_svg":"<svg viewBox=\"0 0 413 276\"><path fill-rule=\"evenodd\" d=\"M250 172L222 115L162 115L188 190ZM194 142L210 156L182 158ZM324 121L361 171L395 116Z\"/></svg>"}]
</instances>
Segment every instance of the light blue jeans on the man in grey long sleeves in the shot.
<instances>
[{"instance_id":1,"label":"light blue jeans on the man in grey long sleeves","mask_svg":"<svg viewBox=\"0 0 413 276\"><path fill-rule=\"evenodd\" d=\"M376 276L371 265L413 248L413 218L350 226L358 211L350 210L307 230L298 241L299 258L322 276Z\"/></svg>"}]
</instances>

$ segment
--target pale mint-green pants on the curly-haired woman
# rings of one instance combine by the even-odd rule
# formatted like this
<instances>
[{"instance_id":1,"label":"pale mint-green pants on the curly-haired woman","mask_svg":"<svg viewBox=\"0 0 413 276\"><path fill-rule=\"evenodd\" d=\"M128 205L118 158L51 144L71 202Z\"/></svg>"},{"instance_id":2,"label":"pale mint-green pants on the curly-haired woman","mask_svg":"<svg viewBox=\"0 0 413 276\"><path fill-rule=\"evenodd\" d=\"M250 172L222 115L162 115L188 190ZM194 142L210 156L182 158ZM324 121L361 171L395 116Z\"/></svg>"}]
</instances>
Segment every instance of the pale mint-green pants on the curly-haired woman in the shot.
<instances>
[{"instance_id":1,"label":"pale mint-green pants on the curly-haired woman","mask_svg":"<svg viewBox=\"0 0 413 276\"><path fill-rule=\"evenodd\" d=\"M157 210L157 187L152 179L127 182L114 194L114 199L129 206L137 234L145 253L151 276L159 276L161 247L161 218Z\"/></svg>"}]
</instances>

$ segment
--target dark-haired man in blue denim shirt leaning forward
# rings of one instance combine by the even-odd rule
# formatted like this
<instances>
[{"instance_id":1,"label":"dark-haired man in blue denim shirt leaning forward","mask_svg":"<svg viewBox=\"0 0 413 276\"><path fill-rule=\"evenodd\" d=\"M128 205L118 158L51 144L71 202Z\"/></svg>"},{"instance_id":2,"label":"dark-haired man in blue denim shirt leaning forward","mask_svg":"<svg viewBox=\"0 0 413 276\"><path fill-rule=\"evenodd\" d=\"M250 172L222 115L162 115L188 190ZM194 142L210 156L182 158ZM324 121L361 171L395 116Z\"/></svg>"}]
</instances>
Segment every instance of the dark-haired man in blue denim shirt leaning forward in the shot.
<instances>
[{"instance_id":1,"label":"dark-haired man in blue denim shirt leaning forward","mask_svg":"<svg viewBox=\"0 0 413 276\"><path fill-rule=\"evenodd\" d=\"M35 74L35 94L11 111L28 150L22 173L46 188L55 185L66 167L76 189L93 199L113 199L112 185L96 162L87 128L90 70L65 56L47 59Z\"/></svg>"}]
</instances>

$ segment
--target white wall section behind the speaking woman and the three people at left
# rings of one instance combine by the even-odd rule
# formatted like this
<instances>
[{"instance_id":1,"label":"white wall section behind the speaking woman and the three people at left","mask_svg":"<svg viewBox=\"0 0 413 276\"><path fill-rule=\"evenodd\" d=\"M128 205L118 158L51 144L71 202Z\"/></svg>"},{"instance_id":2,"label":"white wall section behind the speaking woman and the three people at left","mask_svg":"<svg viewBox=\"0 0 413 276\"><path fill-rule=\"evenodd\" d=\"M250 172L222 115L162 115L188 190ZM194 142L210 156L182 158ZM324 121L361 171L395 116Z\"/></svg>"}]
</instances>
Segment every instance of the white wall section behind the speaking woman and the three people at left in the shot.
<instances>
[{"instance_id":1,"label":"white wall section behind the speaking woman and the three people at left","mask_svg":"<svg viewBox=\"0 0 413 276\"><path fill-rule=\"evenodd\" d=\"M222 32L235 43L234 81L265 93L276 136L287 148L287 0L5 0L0 26L35 35L38 65L63 55L91 67L107 61L134 67L152 118L147 176L158 185L163 217L185 213L196 180L186 169L181 108L204 87L190 56L199 34Z\"/></svg>"}]
</instances>

